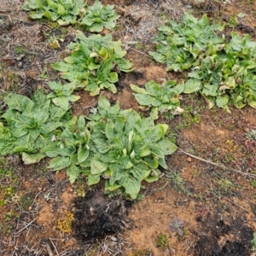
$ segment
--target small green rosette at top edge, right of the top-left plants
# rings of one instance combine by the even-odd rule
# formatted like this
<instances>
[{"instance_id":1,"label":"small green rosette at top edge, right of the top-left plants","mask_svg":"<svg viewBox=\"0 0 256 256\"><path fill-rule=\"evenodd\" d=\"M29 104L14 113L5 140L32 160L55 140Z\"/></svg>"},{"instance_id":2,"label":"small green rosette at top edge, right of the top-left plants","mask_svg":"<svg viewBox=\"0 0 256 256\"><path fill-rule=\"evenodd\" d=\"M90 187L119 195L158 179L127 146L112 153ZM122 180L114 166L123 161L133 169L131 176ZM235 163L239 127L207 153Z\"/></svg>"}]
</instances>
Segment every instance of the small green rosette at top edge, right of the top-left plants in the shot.
<instances>
[{"instance_id":1,"label":"small green rosette at top edge, right of the top-left plants","mask_svg":"<svg viewBox=\"0 0 256 256\"><path fill-rule=\"evenodd\" d=\"M88 6L84 18L81 20L81 25L86 26L90 32L102 32L106 27L108 30L113 30L116 26L115 21L119 19L118 15L113 9L113 5L103 6L100 1L92 6Z\"/></svg>"}]
</instances>

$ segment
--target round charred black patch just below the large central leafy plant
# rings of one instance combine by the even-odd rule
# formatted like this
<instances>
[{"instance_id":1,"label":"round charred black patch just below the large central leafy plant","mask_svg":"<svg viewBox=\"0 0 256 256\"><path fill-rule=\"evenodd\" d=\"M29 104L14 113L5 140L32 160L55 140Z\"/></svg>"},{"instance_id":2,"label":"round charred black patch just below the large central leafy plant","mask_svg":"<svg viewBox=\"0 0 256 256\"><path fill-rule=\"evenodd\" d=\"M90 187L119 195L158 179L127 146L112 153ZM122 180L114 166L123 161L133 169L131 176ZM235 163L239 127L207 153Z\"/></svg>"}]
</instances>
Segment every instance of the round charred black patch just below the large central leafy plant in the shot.
<instances>
[{"instance_id":1,"label":"round charred black patch just below the large central leafy plant","mask_svg":"<svg viewBox=\"0 0 256 256\"><path fill-rule=\"evenodd\" d=\"M120 232L125 226L129 202L109 199L99 191L90 191L74 201L73 234L84 242L95 242Z\"/></svg>"}]
</instances>

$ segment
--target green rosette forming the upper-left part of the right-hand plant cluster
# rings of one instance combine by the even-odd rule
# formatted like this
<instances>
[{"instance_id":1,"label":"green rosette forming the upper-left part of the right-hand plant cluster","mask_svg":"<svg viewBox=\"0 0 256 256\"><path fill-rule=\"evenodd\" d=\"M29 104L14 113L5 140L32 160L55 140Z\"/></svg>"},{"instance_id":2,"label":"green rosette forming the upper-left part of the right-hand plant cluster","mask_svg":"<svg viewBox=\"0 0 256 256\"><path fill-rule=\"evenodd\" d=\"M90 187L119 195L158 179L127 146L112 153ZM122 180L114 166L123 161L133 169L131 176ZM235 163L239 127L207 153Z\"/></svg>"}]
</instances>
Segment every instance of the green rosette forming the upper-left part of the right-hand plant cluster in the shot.
<instances>
[{"instance_id":1,"label":"green rosette forming the upper-left part of the right-hand plant cluster","mask_svg":"<svg viewBox=\"0 0 256 256\"><path fill-rule=\"evenodd\" d=\"M154 38L157 51L149 51L149 55L155 61L166 63L167 71L188 70L200 64L199 57L205 54L207 45L221 47L224 44L224 38L217 35L223 29L218 24L210 25L206 15L197 20L186 13L181 22L170 20L158 28L159 34Z\"/></svg>"}]
</instances>

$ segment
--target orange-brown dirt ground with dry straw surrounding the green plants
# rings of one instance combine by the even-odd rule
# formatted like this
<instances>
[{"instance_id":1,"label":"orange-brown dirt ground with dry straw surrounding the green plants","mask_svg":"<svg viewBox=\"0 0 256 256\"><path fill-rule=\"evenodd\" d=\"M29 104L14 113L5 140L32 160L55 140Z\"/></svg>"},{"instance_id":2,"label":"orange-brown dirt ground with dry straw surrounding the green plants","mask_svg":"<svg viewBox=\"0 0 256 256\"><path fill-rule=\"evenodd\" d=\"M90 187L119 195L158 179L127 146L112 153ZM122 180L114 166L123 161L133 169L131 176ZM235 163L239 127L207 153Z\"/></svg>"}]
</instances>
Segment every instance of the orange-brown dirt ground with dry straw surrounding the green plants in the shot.
<instances>
[{"instance_id":1,"label":"orange-brown dirt ground with dry straw surrounding the green plants","mask_svg":"<svg viewBox=\"0 0 256 256\"><path fill-rule=\"evenodd\" d=\"M201 2L201 3L198 3ZM236 30L255 38L256 3L229 1L102 1L115 4L121 15L115 40L121 40L134 63L133 73L119 74L118 92L103 92L123 109L143 113L129 84L183 78L166 73L148 55L154 49L156 26L169 16L179 20L186 11L226 22L239 13ZM92 1L89 1L89 4ZM15 91L32 96L38 88L49 91L57 79L50 64L65 55L77 27L55 26L30 20L21 10L23 1L0 0L0 89L3 96ZM57 38L59 48L52 47ZM131 42L137 42L131 44ZM88 114L97 98L85 91L73 103L73 114ZM256 131L255 109L230 108L231 113L207 110L199 95L182 96L184 113L170 126L178 150L167 158L170 172L156 183L143 183L140 200L104 195L103 183L88 187L82 178L73 185L65 172L51 172L48 160L25 166L19 155L0 161L0 254L10 255L177 255L247 256L256 230ZM147 111L144 112L147 115ZM173 173L175 175L173 175ZM177 217L185 234L177 236L168 223ZM165 237L165 238L163 238ZM160 238L164 243L160 243Z\"/></svg>"}]
</instances>

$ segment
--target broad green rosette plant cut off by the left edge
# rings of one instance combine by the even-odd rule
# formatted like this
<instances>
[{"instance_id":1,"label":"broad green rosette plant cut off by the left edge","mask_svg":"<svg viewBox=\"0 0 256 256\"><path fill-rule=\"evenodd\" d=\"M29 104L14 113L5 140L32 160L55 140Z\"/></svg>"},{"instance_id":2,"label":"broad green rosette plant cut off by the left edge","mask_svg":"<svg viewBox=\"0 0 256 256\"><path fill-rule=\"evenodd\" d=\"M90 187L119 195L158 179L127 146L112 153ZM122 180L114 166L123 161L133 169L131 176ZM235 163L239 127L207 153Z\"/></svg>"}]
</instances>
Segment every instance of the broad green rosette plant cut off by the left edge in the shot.
<instances>
[{"instance_id":1,"label":"broad green rosette plant cut off by the left edge","mask_svg":"<svg viewBox=\"0 0 256 256\"><path fill-rule=\"evenodd\" d=\"M1 116L1 154L24 152L22 158L26 164L41 160L45 155L38 154L38 150L49 145L61 132L67 111L50 104L42 90L32 99L10 94L5 102L8 109Z\"/></svg>"}]
</instances>

